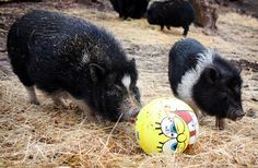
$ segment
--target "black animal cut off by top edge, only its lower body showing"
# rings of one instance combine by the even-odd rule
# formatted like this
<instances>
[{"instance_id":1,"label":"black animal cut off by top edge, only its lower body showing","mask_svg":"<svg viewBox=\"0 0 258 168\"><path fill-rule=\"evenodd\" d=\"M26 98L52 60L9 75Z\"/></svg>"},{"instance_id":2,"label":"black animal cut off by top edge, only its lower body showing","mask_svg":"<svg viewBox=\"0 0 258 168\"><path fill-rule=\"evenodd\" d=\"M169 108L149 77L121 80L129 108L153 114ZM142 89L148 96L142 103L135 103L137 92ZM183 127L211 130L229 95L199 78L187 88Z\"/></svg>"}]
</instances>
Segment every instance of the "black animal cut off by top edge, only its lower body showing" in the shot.
<instances>
[{"instance_id":1,"label":"black animal cut off by top edge, only its lower body showing","mask_svg":"<svg viewBox=\"0 0 258 168\"><path fill-rule=\"evenodd\" d=\"M110 0L110 2L119 17L124 20L141 19L146 12L148 0Z\"/></svg>"}]
</instances>

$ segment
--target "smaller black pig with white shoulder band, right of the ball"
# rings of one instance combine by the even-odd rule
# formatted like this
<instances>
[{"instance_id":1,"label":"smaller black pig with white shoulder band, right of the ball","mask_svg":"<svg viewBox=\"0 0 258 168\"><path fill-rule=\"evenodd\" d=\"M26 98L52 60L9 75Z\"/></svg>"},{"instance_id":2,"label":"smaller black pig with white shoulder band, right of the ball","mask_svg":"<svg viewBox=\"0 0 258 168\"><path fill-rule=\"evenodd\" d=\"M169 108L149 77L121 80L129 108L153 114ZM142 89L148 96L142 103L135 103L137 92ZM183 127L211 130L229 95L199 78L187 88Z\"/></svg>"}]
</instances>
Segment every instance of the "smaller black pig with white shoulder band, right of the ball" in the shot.
<instances>
[{"instance_id":1,"label":"smaller black pig with white shoulder band, right of the ball","mask_svg":"<svg viewBox=\"0 0 258 168\"><path fill-rule=\"evenodd\" d=\"M196 39L186 38L172 47L168 77L174 95L194 109L215 116L220 129L224 118L235 121L245 115L241 71Z\"/></svg>"}]
</instances>

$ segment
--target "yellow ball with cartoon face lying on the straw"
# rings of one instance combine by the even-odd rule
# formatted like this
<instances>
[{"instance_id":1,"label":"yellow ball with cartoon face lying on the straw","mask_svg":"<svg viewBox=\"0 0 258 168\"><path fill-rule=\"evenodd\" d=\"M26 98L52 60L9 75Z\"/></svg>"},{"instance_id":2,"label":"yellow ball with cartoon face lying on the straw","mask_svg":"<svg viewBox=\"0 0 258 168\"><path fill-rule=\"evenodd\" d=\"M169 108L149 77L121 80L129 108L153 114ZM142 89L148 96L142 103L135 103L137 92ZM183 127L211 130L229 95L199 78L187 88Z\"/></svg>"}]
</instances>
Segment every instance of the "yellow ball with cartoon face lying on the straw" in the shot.
<instances>
[{"instance_id":1,"label":"yellow ball with cartoon face lying on the straw","mask_svg":"<svg viewBox=\"0 0 258 168\"><path fill-rule=\"evenodd\" d=\"M177 98L146 104L136 121L136 136L146 154L183 153L196 143L199 124L194 110Z\"/></svg>"}]
</instances>

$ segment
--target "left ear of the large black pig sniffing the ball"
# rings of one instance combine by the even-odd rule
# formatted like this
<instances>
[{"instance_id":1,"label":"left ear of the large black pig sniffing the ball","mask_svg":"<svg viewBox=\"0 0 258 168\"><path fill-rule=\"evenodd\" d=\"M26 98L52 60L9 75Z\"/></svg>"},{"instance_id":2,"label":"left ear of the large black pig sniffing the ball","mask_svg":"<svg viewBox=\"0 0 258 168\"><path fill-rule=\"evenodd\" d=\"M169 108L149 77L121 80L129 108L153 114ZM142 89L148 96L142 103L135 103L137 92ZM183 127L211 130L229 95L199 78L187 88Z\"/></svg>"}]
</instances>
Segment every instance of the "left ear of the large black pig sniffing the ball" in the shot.
<instances>
[{"instance_id":1,"label":"left ear of the large black pig sniffing the ball","mask_svg":"<svg viewBox=\"0 0 258 168\"><path fill-rule=\"evenodd\" d=\"M104 77L105 73L106 71L101 65L96 63L90 63L90 74L94 83L101 81Z\"/></svg>"}]
</instances>

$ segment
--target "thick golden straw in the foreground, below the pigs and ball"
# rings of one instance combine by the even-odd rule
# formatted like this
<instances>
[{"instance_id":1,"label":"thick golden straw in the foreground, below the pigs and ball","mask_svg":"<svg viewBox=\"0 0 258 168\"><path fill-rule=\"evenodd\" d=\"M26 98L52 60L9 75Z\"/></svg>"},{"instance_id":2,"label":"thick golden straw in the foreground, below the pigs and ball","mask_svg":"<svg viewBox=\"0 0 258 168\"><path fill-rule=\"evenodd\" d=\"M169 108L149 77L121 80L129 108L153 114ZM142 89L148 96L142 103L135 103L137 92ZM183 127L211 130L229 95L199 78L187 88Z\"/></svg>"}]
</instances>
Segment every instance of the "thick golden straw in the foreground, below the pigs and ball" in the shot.
<instances>
[{"instance_id":1,"label":"thick golden straw in the foreground, below the pigs and ball","mask_svg":"<svg viewBox=\"0 0 258 168\"><path fill-rule=\"evenodd\" d=\"M257 119L228 121L224 131L208 118L188 154L148 156L130 123L89 123L78 109L26 103L17 80L0 85L0 163L2 166L199 167L258 165ZM0 165L0 166L1 166Z\"/></svg>"}]
</instances>

